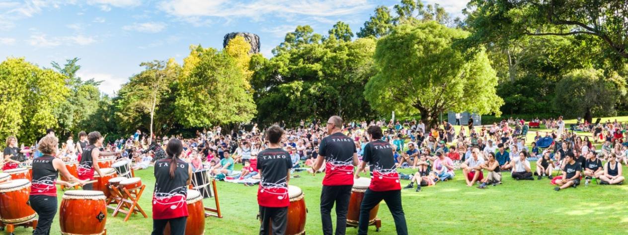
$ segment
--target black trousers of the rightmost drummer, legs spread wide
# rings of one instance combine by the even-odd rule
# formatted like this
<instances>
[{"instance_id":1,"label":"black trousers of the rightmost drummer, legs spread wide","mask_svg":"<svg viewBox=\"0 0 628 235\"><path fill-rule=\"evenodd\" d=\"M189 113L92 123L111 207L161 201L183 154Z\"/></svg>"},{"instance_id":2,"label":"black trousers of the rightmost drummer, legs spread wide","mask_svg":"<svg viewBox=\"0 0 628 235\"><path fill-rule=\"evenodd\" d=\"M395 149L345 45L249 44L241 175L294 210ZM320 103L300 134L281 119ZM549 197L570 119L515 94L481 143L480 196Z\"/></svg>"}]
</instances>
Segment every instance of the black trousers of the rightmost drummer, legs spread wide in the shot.
<instances>
[{"instance_id":1,"label":"black trousers of the rightmost drummer, legs spread wide","mask_svg":"<svg viewBox=\"0 0 628 235\"><path fill-rule=\"evenodd\" d=\"M395 229L397 234L408 234L408 226L406 225L406 216L401 206L401 190L391 190L384 192L371 191L367 189L364 192L364 199L360 205L360 222L358 224L358 234L367 234L369 231L369 214L371 209L377 206L379 202L384 200L388 209L393 214Z\"/></svg>"}]
</instances>

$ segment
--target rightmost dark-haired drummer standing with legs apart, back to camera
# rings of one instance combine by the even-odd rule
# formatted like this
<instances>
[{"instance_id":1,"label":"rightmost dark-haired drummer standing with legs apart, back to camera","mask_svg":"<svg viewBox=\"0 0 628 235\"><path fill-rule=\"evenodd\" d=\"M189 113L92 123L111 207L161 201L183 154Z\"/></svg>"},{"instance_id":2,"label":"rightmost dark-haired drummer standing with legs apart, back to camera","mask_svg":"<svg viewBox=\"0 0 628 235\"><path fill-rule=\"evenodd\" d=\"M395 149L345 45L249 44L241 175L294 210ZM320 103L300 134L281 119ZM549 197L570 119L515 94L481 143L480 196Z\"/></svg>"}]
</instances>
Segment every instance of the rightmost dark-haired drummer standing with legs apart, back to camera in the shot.
<instances>
[{"instance_id":1,"label":"rightmost dark-haired drummer standing with legs apart, back to camera","mask_svg":"<svg viewBox=\"0 0 628 235\"><path fill-rule=\"evenodd\" d=\"M397 234L408 234L406 216L401 206L401 184L399 174L394 164L394 156L391 145L382 139L382 128L371 125L367 128L369 144L364 146L362 162L355 171L355 179L360 178L360 172L369 164L371 170L371 185L364 192L362 205L360 205L360 221L358 234L367 234L369 228L369 214L371 209L384 200L388 209L393 214Z\"/></svg>"}]
</instances>

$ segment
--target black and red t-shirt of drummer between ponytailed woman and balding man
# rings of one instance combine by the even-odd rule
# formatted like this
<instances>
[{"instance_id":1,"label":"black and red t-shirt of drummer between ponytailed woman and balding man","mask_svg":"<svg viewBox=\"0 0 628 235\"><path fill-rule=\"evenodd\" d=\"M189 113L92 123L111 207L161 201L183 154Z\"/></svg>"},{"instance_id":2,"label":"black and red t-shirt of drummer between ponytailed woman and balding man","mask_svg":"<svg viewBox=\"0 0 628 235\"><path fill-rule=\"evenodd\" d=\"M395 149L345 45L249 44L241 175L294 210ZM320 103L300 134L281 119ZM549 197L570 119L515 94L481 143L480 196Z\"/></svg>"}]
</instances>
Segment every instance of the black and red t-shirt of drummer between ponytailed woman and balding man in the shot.
<instances>
[{"instance_id":1,"label":"black and red t-shirt of drummer between ponytailed woman and balding man","mask_svg":"<svg viewBox=\"0 0 628 235\"><path fill-rule=\"evenodd\" d=\"M288 179L288 170L291 168L290 154L283 149L264 149L257 154L257 169L262 175L257 190L259 206L290 206L286 179Z\"/></svg>"}]
</instances>

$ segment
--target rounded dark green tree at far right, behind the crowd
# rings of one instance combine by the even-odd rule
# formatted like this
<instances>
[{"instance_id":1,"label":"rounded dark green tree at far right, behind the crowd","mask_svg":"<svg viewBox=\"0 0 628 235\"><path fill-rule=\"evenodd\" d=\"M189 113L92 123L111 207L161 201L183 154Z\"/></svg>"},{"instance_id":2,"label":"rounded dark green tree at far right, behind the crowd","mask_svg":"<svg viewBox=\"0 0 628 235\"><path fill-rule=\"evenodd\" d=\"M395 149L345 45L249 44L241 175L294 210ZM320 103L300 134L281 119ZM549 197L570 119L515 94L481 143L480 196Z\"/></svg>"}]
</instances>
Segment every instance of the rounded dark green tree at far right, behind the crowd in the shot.
<instances>
[{"instance_id":1,"label":"rounded dark green tree at far right, behind the crowd","mask_svg":"<svg viewBox=\"0 0 628 235\"><path fill-rule=\"evenodd\" d=\"M615 115L615 104L625 95L625 78L588 68L571 71L556 84L554 104L561 113L584 117L591 123L593 115Z\"/></svg>"}]
</instances>

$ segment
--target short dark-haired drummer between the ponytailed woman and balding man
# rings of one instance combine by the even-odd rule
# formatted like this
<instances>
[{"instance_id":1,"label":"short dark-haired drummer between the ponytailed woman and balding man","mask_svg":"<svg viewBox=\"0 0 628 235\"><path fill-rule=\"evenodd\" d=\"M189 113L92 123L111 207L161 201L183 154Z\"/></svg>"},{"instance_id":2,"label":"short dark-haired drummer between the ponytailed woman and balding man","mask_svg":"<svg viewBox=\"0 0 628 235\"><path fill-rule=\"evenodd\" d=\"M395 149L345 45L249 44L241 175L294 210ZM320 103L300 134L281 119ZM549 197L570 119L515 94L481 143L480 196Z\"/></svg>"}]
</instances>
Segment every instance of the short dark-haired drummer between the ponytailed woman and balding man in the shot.
<instances>
[{"instance_id":1,"label":"short dark-haired drummer between the ponytailed woman and balding man","mask_svg":"<svg viewBox=\"0 0 628 235\"><path fill-rule=\"evenodd\" d=\"M257 204L262 224L259 234L285 234L288 225L288 181L292 160L286 150L281 149L283 129L273 125L266 130L268 149L257 154L257 169L262 179L257 190ZM272 221L272 228L270 227ZM272 231L271 231L272 229Z\"/></svg>"}]
</instances>

